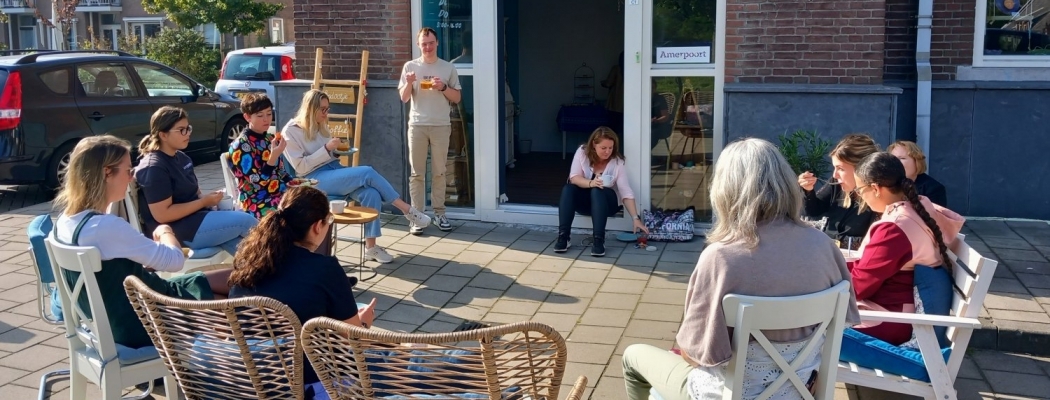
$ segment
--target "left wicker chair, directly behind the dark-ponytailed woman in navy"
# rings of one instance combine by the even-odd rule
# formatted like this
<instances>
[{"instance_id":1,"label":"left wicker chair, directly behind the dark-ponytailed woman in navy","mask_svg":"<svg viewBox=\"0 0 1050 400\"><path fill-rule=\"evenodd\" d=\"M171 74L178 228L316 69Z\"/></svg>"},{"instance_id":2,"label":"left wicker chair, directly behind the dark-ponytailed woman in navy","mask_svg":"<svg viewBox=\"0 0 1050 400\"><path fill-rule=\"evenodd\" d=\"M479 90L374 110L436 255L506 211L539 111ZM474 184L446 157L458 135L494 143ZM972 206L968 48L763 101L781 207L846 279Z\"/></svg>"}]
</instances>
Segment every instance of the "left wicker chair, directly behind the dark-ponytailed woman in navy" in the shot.
<instances>
[{"instance_id":1,"label":"left wicker chair, directly behind the dark-ponytailed woman in navy","mask_svg":"<svg viewBox=\"0 0 1050 400\"><path fill-rule=\"evenodd\" d=\"M172 298L130 276L124 290L189 400L303 398L301 324L288 306Z\"/></svg>"}]
</instances>

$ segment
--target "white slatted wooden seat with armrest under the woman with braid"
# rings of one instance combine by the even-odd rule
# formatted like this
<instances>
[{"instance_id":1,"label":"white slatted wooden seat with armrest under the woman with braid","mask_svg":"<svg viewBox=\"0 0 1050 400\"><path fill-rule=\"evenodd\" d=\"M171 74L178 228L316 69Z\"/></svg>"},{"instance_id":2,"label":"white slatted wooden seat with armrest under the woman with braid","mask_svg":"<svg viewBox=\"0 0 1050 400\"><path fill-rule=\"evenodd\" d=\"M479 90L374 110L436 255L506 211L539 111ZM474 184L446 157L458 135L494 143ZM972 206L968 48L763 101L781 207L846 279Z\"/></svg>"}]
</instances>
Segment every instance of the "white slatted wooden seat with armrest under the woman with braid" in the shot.
<instances>
[{"instance_id":1,"label":"white slatted wooden seat with armrest under the woman with braid","mask_svg":"<svg viewBox=\"0 0 1050 400\"><path fill-rule=\"evenodd\" d=\"M952 258L952 276L954 277L956 294L951 301L951 315L924 315L909 313L889 313L861 311L861 319L865 321L883 321L910 323L919 341L929 382L909 379L880 370L866 369L853 362L839 363L839 381L858 386L867 386L920 396L925 399L954 400L956 376L963 364L966 349L970 342L973 330L981 328L978 314L984 304L988 286L995 275L999 262L984 257L970 248L959 235L949 253ZM947 327L948 341L951 343L951 354L944 361L941 348L938 345L933 327Z\"/></svg>"}]
</instances>

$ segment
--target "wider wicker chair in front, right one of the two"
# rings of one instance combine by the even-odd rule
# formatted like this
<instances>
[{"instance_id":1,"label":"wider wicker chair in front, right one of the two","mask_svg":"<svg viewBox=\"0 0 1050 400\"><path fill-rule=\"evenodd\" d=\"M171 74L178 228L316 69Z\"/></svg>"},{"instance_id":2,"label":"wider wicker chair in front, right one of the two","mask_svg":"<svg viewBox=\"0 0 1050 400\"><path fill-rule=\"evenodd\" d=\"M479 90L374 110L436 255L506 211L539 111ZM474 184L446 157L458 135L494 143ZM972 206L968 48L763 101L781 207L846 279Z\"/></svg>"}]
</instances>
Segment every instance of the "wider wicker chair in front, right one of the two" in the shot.
<instances>
[{"instance_id":1,"label":"wider wicker chair in front, right one of the two","mask_svg":"<svg viewBox=\"0 0 1050 400\"><path fill-rule=\"evenodd\" d=\"M558 400L568 355L562 335L539 322L403 334L314 318L302 328L302 346L329 395L345 400L465 394ZM579 400L586 385L580 377L568 399Z\"/></svg>"}]
</instances>

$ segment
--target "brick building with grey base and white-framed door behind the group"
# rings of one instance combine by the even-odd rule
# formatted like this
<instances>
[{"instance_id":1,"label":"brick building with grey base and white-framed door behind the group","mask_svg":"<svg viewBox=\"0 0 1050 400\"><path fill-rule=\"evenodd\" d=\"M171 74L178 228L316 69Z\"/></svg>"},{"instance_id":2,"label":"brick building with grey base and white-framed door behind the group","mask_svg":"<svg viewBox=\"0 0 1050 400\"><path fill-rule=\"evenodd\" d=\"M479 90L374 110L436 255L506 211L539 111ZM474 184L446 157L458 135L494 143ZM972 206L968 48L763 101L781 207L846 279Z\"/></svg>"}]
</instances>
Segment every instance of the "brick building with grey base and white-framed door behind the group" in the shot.
<instances>
[{"instance_id":1,"label":"brick building with grey base and white-framed door behind the group","mask_svg":"<svg viewBox=\"0 0 1050 400\"><path fill-rule=\"evenodd\" d=\"M318 47L323 73L345 79L370 51L362 160L402 183L395 88L415 33L438 30L464 87L459 217L554 225L567 160L604 124L640 207L693 207L698 222L727 143L796 130L917 141L952 209L1048 219L1048 13L1050 0L301 0L294 23L300 77Z\"/></svg>"}]
</instances>

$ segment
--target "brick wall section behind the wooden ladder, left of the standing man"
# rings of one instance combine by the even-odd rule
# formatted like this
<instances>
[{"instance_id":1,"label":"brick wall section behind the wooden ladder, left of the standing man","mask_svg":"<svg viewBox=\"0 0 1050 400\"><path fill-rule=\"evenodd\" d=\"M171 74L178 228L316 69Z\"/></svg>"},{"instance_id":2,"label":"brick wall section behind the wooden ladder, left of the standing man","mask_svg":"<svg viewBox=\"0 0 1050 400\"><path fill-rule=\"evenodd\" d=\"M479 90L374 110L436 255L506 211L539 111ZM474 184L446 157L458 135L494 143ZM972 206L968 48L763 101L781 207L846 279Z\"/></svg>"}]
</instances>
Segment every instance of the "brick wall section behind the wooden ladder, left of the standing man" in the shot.
<instances>
[{"instance_id":1,"label":"brick wall section behind the wooden ladder, left of the standing man","mask_svg":"<svg viewBox=\"0 0 1050 400\"><path fill-rule=\"evenodd\" d=\"M412 8L408 0L295 2L295 75L313 79L317 47L324 49L322 75L357 79L361 50L369 50L370 79L398 79L412 58Z\"/></svg>"}]
</instances>

